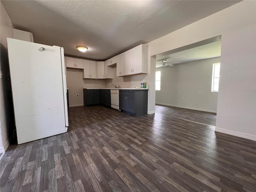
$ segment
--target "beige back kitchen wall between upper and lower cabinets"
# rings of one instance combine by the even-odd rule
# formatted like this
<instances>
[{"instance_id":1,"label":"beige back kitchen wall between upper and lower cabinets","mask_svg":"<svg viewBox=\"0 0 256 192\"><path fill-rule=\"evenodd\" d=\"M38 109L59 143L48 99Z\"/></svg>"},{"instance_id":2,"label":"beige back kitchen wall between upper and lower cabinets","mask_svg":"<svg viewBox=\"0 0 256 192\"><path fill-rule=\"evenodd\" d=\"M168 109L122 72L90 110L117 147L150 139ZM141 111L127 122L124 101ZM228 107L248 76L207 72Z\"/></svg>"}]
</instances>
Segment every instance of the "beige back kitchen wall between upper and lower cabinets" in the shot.
<instances>
[{"instance_id":1,"label":"beige back kitchen wall between upper and lower cabinets","mask_svg":"<svg viewBox=\"0 0 256 192\"><path fill-rule=\"evenodd\" d=\"M69 106L84 105L83 86L87 88L105 88L105 80L83 79L83 70L67 68L67 88ZM77 97L76 94L79 96Z\"/></svg>"}]
</instances>

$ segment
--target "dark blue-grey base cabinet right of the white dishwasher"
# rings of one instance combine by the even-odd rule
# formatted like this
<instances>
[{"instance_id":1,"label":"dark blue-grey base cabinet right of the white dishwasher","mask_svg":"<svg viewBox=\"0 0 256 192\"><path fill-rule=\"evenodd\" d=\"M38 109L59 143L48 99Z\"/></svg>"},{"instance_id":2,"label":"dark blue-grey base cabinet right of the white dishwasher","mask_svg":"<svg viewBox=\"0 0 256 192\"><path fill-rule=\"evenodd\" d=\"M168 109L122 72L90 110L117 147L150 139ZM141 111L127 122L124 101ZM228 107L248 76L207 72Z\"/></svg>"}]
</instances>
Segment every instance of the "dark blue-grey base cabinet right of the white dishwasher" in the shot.
<instances>
[{"instance_id":1,"label":"dark blue-grey base cabinet right of the white dishwasher","mask_svg":"<svg viewBox=\"0 0 256 192\"><path fill-rule=\"evenodd\" d=\"M119 108L134 116L147 114L148 90L119 90Z\"/></svg>"}]
</instances>

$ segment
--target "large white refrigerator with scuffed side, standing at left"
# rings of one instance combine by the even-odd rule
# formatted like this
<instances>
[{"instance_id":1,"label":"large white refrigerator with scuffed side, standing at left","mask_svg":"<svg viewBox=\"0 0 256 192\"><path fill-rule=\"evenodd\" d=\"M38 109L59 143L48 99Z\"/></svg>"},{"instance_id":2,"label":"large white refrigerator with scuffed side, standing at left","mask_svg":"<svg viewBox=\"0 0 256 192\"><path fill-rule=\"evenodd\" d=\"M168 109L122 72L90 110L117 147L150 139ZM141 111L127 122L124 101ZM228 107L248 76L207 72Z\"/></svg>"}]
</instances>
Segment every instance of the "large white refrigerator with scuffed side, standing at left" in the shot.
<instances>
[{"instance_id":1,"label":"large white refrigerator with scuffed side, standing at left","mask_svg":"<svg viewBox=\"0 0 256 192\"><path fill-rule=\"evenodd\" d=\"M18 144L68 130L64 49L7 38Z\"/></svg>"}]
</instances>

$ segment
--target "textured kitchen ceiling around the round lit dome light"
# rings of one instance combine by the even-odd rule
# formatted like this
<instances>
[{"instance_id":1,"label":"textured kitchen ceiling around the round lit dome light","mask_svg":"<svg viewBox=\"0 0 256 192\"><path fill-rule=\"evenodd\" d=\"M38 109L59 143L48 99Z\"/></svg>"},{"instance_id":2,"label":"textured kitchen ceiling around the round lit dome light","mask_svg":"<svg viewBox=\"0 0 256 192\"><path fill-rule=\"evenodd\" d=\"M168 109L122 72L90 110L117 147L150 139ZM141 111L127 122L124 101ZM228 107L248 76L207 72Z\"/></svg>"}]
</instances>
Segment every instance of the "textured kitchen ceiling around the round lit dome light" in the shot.
<instances>
[{"instance_id":1,"label":"textured kitchen ceiling around the round lit dome light","mask_svg":"<svg viewBox=\"0 0 256 192\"><path fill-rule=\"evenodd\" d=\"M14 27L66 55L105 60L232 6L238 0L1 1ZM89 49L78 52L76 46Z\"/></svg>"}]
</instances>

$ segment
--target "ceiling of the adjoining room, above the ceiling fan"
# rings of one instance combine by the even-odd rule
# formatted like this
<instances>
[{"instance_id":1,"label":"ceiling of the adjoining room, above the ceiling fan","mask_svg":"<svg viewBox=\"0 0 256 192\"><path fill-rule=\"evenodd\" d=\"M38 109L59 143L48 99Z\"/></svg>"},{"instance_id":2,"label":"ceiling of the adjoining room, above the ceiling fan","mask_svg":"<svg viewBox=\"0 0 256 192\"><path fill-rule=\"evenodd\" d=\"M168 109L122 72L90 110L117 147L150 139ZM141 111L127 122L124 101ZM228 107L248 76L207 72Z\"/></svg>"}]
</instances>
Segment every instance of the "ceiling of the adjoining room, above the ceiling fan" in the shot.
<instances>
[{"instance_id":1,"label":"ceiling of the adjoining room, above the ceiling fan","mask_svg":"<svg viewBox=\"0 0 256 192\"><path fill-rule=\"evenodd\" d=\"M221 41L198 46L192 49L156 57L156 66L161 65L162 59L168 59L168 62L186 63L196 60L220 57Z\"/></svg>"}]
</instances>

